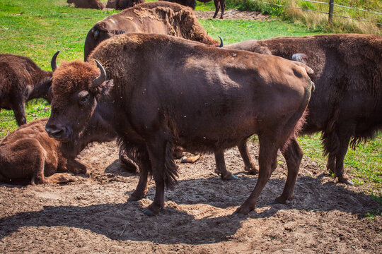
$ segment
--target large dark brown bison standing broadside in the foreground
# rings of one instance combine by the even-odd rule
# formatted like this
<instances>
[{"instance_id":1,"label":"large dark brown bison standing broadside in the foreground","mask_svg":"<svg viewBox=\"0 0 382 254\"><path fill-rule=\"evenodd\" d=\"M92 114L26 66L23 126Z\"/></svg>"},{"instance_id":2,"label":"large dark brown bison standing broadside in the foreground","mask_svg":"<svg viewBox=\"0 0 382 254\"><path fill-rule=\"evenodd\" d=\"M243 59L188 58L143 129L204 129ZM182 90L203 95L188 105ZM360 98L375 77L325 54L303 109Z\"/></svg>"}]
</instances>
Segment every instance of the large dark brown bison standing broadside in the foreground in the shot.
<instances>
[{"instance_id":1,"label":"large dark brown bison standing broadside in the foreground","mask_svg":"<svg viewBox=\"0 0 382 254\"><path fill-rule=\"evenodd\" d=\"M94 59L105 68L97 62L98 71ZM144 210L148 215L163 208L165 186L175 186L175 145L216 152L257 133L259 179L238 208L246 214L255 209L277 167L279 149L287 158L288 177L277 201L294 198L303 155L294 132L313 84L307 71L303 63L277 56L129 33L101 43L89 62L64 63L54 71L46 129L57 140L74 142L91 117L107 122L139 165L132 199L146 195L149 172L154 176L156 194Z\"/></svg>"}]
</instances>

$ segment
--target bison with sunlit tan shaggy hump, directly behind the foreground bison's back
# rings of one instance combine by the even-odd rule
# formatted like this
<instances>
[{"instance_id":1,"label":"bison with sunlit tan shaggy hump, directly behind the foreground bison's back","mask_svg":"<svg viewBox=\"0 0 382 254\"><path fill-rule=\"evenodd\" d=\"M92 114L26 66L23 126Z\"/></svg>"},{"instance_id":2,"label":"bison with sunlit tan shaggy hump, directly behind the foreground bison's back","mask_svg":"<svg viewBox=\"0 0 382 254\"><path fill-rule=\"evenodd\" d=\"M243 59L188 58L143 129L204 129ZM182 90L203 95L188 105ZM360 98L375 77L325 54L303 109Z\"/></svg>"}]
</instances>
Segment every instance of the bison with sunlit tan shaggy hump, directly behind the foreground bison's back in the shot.
<instances>
[{"instance_id":1,"label":"bison with sunlit tan shaggy hump, directly behind the foreground bison's back","mask_svg":"<svg viewBox=\"0 0 382 254\"><path fill-rule=\"evenodd\" d=\"M219 44L207 35L190 8L155 1L139 4L98 21L86 36L85 61L100 42L125 32L173 35L205 44Z\"/></svg>"}]
</instances>

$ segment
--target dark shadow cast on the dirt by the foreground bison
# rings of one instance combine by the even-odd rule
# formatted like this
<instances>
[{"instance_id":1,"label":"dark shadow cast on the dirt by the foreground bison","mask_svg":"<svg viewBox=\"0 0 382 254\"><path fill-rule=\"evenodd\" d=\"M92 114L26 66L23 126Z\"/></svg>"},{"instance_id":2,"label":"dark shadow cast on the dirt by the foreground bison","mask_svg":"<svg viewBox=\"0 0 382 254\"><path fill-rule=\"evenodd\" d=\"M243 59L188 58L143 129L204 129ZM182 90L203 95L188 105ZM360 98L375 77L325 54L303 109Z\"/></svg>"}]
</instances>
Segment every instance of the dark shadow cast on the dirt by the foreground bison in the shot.
<instances>
[{"instance_id":1,"label":"dark shadow cast on the dirt by the foreground bison","mask_svg":"<svg viewBox=\"0 0 382 254\"><path fill-rule=\"evenodd\" d=\"M25 226L68 226L88 229L113 240L170 244L218 243L236 234L241 222L248 217L268 218L279 210L340 210L363 215L378 207L378 203L368 195L349 191L341 184L322 184L324 175L321 174L317 178L300 176L296 183L296 200L287 205L272 204L272 200L282 192L284 181L270 179L260 195L256 211L248 215L232 214L248 198L257 181L256 178L245 177L243 172L236 175L238 180L231 182L222 182L218 177L179 181L178 188L166 191L166 207L156 217L146 217L141 212L142 207L153 199L154 188L149 189L150 200L143 202L144 205L128 201L84 207L45 206L36 212L19 212L0 219L0 239ZM201 207L195 212L195 208L189 210L187 205L199 204L222 210L219 210L218 215L210 214L197 219L199 212L209 213L208 207Z\"/></svg>"}]
</instances>

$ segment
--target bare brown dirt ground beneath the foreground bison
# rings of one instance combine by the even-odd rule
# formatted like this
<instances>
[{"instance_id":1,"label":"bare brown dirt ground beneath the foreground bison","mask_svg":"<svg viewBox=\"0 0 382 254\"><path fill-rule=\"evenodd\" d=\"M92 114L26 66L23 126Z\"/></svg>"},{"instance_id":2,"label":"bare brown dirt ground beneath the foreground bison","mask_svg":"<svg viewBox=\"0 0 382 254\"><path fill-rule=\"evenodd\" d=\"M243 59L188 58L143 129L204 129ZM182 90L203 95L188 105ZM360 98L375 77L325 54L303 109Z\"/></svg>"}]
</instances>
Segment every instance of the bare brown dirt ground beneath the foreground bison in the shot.
<instances>
[{"instance_id":1,"label":"bare brown dirt ground beneath the foreground bison","mask_svg":"<svg viewBox=\"0 0 382 254\"><path fill-rule=\"evenodd\" d=\"M257 144L250 144L253 157ZM127 201L138 176L123 171L115 143L93 144L79 159L88 174L66 185L0 185L0 253L381 253L382 219L364 217L378 204L354 186L335 183L303 159L296 200L274 204L286 179L279 167L255 211L232 214L257 181L243 171L236 148L226 164L238 176L221 181L213 155L179 164L156 217L141 210L154 198ZM179 163L177 161L177 163Z\"/></svg>"}]
</instances>

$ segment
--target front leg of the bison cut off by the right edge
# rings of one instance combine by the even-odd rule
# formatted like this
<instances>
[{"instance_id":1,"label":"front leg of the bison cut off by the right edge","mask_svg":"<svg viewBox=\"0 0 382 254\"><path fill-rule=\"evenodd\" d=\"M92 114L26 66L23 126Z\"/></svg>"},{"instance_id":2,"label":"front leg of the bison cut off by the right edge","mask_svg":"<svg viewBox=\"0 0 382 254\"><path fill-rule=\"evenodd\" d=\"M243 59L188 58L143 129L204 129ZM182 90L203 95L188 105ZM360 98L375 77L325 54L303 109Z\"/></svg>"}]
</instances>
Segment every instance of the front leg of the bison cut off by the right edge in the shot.
<instances>
[{"instance_id":1,"label":"front leg of the bison cut off by the right edge","mask_svg":"<svg viewBox=\"0 0 382 254\"><path fill-rule=\"evenodd\" d=\"M340 147L335 157L335 176L338 177L338 182L353 185L354 183L350 181L349 176L344 171L344 159L351 135L350 133L341 132L338 136L340 138Z\"/></svg>"}]
</instances>

